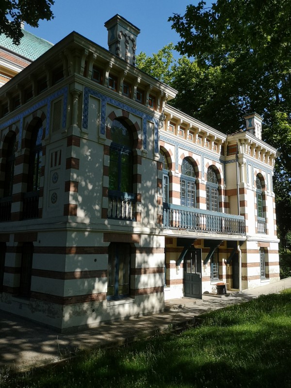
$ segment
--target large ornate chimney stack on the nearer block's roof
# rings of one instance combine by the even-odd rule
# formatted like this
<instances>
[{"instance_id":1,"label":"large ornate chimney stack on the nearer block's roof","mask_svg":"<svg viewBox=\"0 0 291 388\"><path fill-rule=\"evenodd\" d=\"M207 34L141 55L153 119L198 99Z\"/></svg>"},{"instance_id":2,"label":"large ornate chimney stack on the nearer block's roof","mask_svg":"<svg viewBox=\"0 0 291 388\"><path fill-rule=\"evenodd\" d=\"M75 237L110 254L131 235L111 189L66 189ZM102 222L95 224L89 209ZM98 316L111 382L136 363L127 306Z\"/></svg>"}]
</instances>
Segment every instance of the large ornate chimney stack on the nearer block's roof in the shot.
<instances>
[{"instance_id":1,"label":"large ornate chimney stack on the nearer block's roof","mask_svg":"<svg viewBox=\"0 0 291 388\"><path fill-rule=\"evenodd\" d=\"M140 29L120 15L115 15L104 24L108 31L108 49L135 66L136 38Z\"/></svg>"}]
</instances>

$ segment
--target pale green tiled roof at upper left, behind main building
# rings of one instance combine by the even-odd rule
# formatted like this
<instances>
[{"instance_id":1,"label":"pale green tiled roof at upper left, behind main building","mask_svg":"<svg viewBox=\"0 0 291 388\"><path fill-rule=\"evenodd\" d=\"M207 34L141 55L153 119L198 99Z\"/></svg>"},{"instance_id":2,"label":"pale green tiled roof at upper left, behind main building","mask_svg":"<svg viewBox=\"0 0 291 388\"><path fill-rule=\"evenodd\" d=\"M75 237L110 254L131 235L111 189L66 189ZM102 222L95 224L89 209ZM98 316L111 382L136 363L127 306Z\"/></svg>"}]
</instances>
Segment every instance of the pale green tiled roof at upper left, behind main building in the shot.
<instances>
[{"instance_id":1,"label":"pale green tiled roof at upper left, behind main building","mask_svg":"<svg viewBox=\"0 0 291 388\"><path fill-rule=\"evenodd\" d=\"M47 40L33 35L33 33L22 30L24 33L18 46L14 45L12 39L7 38L3 33L0 34L0 47L13 51L31 61L35 61L43 53L48 51L53 44Z\"/></svg>"}]
</instances>

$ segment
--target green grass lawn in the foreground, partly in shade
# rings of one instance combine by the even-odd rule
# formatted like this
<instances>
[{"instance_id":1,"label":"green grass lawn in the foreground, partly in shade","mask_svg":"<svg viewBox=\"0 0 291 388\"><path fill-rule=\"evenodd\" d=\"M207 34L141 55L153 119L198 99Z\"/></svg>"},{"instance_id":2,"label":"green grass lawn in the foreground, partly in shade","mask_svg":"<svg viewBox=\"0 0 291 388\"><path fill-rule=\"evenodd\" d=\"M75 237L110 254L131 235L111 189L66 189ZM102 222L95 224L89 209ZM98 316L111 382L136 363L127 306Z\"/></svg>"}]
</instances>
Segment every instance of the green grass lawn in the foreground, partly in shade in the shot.
<instances>
[{"instance_id":1,"label":"green grass lawn in the foreground, partly in shade","mask_svg":"<svg viewBox=\"0 0 291 388\"><path fill-rule=\"evenodd\" d=\"M204 314L179 334L0 374L0 387L291 387L291 290Z\"/></svg>"}]
</instances>

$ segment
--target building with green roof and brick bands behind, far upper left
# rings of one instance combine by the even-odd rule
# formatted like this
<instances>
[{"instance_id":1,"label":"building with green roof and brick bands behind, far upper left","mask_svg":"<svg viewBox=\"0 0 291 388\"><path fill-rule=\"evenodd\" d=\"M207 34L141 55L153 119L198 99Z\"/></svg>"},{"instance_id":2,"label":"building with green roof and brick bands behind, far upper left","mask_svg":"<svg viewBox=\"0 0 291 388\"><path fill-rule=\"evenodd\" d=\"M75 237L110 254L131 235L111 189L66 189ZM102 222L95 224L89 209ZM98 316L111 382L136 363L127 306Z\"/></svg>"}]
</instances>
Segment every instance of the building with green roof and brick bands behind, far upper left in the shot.
<instances>
[{"instance_id":1,"label":"building with green roof and brick bands behind, far upper left","mask_svg":"<svg viewBox=\"0 0 291 388\"><path fill-rule=\"evenodd\" d=\"M0 87L11 80L25 67L30 65L53 45L46 40L24 30L19 45L14 45L12 39L0 34Z\"/></svg>"}]
</instances>

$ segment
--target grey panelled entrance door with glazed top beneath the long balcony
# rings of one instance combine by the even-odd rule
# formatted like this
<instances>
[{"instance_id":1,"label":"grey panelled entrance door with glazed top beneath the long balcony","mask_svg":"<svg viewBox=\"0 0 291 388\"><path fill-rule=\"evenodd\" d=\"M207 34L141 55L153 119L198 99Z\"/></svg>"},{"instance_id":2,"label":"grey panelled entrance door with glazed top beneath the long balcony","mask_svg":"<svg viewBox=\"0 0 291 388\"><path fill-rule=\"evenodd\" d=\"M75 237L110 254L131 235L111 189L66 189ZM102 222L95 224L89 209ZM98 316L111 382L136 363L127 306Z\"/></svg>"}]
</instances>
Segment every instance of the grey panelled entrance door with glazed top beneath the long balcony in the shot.
<instances>
[{"instance_id":1,"label":"grey panelled entrance door with glazed top beneath the long balcony","mask_svg":"<svg viewBox=\"0 0 291 388\"><path fill-rule=\"evenodd\" d=\"M202 299L201 249L190 248L185 255L184 296Z\"/></svg>"}]
</instances>

